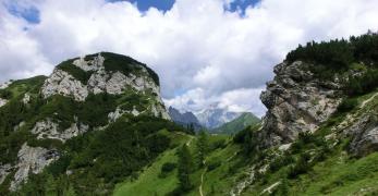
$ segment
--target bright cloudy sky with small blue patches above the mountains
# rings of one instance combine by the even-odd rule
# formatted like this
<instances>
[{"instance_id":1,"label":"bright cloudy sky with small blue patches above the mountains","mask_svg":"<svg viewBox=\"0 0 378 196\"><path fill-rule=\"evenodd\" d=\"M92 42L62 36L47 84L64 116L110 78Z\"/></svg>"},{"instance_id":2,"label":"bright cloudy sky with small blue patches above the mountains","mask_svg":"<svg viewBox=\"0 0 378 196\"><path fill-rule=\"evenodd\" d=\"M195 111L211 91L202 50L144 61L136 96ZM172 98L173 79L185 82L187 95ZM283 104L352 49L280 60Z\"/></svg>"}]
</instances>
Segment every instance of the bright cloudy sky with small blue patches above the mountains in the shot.
<instances>
[{"instance_id":1,"label":"bright cloudy sky with small blue patches above the mountains","mask_svg":"<svg viewBox=\"0 0 378 196\"><path fill-rule=\"evenodd\" d=\"M263 117L272 69L298 44L378 28L377 0L0 0L0 82L99 51L160 76L168 106Z\"/></svg>"}]
</instances>

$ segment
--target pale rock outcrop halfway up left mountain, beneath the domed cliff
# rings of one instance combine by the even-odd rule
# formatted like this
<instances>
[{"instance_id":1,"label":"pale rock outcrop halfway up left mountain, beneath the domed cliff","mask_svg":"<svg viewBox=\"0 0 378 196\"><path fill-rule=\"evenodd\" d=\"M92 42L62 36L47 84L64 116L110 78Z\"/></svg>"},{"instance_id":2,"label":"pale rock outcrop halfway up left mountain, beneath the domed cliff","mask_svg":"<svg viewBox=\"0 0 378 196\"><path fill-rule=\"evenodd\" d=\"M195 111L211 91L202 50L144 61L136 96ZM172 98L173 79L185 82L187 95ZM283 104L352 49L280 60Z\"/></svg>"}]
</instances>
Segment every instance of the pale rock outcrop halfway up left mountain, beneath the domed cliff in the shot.
<instances>
[{"instance_id":1,"label":"pale rock outcrop halfway up left mountain, beneath the domed cliff","mask_svg":"<svg viewBox=\"0 0 378 196\"><path fill-rule=\"evenodd\" d=\"M71 126L64 131L59 131L59 124L52 122L50 119L37 122L32 130L33 134L37 134L38 139L50 138L65 142L72 137L83 134L89 130L88 125L82 123L72 123Z\"/></svg>"}]
</instances>

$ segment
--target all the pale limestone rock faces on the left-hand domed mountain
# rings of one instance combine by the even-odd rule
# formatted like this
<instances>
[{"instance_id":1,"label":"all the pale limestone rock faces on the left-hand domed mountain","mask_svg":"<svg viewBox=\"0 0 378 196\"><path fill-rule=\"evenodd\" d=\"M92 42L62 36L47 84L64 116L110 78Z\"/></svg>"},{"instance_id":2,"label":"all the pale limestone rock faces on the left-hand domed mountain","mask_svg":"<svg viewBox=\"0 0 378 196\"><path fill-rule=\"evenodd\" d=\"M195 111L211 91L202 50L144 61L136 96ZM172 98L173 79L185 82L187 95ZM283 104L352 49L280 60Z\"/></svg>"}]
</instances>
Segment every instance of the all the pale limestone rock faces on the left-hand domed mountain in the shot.
<instances>
[{"instance_id":1,"label":"all the pale limestone rock faces on the left-hand domed mountain","mask_svg":"<svg viewBox=\"0 0 378 196\"><path fill-rule=\"evenodd\" d=\"M113 57L118 57L121 60L111 59ZM28 108L28 105L31 102L33 103L33 99L42 99L39 101L44 102L54 95L70 97L76 103L84 103L87 101L88 96L96 96L98 94L108 94L118 97L124 96L124 98L134 97L134 99L124 99L124 101L120 98L115 101L117 105L113 106L114 108L105 114L109 119L108 124L94 127L93 125L81 122L81 119L73 112L70 113L72 117L69 117L71 120L64 122L66 124L62 127L60 125L61 120L56 118L60 111L56 109L57 111L52 111L51 115L40 118L38 121L25 119L24 121L26 122L21 122L14 130L23 128L27 123L33 124L28 131L36 139L54 139L65 143L68 139L85 132L107 127L110 123L115 122L117 119L126 113L134 117L148 114L170 119L160 97L160 87L156 79L157 75L153 75L155 73L148 70L146 65L137 63L135 60L124 62L122 58L125 59L126 57L113 53L108 53L108 56L97 53L66 61L69 63L65 64L68 65L65 69L58 65L53 73L45 79L39 93L35 95L26 93L17 100L20 105ZM107 64L107 60L112 60L110 61L112 64ZM121 63L121 65L117 63ZM9 85L10 83L7 83L1 85L0 88L5 89ZM144 98L144 102L141 102L141 97ZM7 103L8 100L0 98L0 107ZM41 172L60 156L61 152L54 148L31 147L25 142L20 146L15 162L0 162L0 184L9 174L14 173L10 189L16 191L20 184L27 181L29 173Z\"/></svg>"}]
</instances>

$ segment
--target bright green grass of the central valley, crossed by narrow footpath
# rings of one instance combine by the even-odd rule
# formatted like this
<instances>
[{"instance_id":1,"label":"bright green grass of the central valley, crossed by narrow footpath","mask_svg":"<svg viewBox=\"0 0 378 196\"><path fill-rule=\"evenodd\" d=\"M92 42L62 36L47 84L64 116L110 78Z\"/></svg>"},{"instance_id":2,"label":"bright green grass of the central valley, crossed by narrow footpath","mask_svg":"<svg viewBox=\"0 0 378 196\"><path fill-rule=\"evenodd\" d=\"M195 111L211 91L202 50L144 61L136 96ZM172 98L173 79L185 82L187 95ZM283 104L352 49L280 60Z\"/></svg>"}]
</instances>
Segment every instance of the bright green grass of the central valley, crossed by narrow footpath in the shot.
<instances>
[{"instance_id":1,"label":"bright green grass of the central valley, crossed by narrow footpath","mask_svg":"<svg viewBox=\"0 0 378 196\"><path fill-rule=\"evenodd\" d=\"M180 137L178 137L180 136ZM206 166L202 169L195 170L191 174L191 181L194 185L193 189L185 195L199 195L199 186L203 187L204 195L224 195L231 189L234 181L235 171L237 170L235 163L236 152L240 150L237 145L228 143L230 137L225 135L211 135L209 136L209 146L211 151L206 159ZM137 180L126 180L117 185L113 195L167 195L178 187L179 181L176 177L176 169L168 173L164 177L159 177L161 167L166 162L176 162L176 150L179 146L187 144L194 158L196 157L196 137L176 134L175 148L169 149L159 156L156 161L149 167L145 168L139 174ZM234 170L236 169L236 170ZM242 169L242 168L240 168ZM232 173L232 174L231 174ZM204 175L203 175L204 174ZM203 175L203 184L202 184Z\"/></svg>"}]
</instances>

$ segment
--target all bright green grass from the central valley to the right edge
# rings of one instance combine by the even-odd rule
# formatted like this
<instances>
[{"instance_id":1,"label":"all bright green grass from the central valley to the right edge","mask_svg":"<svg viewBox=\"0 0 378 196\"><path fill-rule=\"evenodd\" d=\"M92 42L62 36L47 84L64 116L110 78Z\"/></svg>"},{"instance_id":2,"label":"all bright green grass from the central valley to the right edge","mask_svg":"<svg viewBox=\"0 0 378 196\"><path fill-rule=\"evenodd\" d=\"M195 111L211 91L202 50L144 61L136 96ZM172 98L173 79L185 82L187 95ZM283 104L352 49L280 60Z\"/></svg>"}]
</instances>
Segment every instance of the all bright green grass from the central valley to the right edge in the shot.
<instances>
[{"instance_id":1,"label":"all bright green grass from the central valley to the right edge","mask_svg":"<svg viewBox=\"0 0 378 196\"><path fill-rule=\"evenodd\" d=\"M349 138L322 139L332 133L331 127L340 124L349 114L377 111L378 99L375 95L377 91L353 98L358 106L333 115L318 132L300 138L286 152L268 149L246 154L242 146L229 140L230 136L210 135L211 150L206 157L206 166L191 174L194 187L185 195L200 195L199 189L206 196L230 195L237 184L247 182L251 167L256 163L268 164L267 172L263 175L256 173L256 180L245 187L242 195L377 195L378 152L355 158L345 150ZM186 136L172 140L176 140L176 145L188 143L195 157L196 138ZM222 144L222 140L225 142ZM304 155L310 156L306 170L290 174ZM175 148L166 151L144 170L139 179L119 184L114 195L167 195L178 187L176 170L159 179L160 168L164 162L175 161Z\"/></svg>"}]
</instances>

